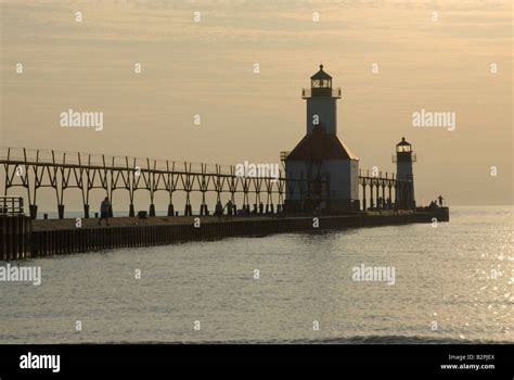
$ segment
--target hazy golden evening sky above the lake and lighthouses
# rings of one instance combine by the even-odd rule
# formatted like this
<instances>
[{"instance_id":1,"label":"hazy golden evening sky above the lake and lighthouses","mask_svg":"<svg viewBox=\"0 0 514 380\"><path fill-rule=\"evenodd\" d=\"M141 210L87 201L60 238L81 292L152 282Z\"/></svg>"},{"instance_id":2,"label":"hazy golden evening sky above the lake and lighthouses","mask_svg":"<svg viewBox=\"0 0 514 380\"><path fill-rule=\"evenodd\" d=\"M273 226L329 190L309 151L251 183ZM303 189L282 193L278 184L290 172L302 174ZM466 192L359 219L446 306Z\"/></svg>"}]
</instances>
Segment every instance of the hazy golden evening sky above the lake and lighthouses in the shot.
<instances>
[{"instance_id":1,"label":"hazy golden evening sky above the lake and lighthouses","mask_svg":"<svg viewBox=\"0 0 514 380\"><path fill-rule=\"evenodd\" d=\"M422 203L512 203L511 0L15 0L0 17L0 145L279 162L306 132L300 89L322 62L361 168L395 170L404 136ZM68 109L103 112L104 129L62 128ZM454 112L455 130L413 127L421 109Z\"/></svg>"}]
</instances>

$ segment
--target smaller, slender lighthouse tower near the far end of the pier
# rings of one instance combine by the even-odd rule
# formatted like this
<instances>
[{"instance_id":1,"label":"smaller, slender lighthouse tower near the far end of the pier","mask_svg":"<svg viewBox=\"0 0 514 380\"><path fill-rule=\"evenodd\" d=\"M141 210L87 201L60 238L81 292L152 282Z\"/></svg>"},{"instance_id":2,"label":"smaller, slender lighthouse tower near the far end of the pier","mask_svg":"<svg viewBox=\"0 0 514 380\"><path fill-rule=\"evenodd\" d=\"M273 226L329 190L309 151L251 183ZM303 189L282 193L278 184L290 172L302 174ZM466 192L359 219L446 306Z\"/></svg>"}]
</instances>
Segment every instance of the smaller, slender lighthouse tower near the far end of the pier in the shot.
<instances>
[{"instance_id":1,"label":"smaller, slender lighthouse tower near the far end of the pier","mask_svg":"<svg viewBox=\"0 0 514 380\"><path fill-rule=\"evenodd\" d=\"M397 188L396 202L401 208L415 208L414 199L414 175L412 163L416 161L415 153L412 152L412 145L402 137L401 141L396 144L396 162L397 178L400 185Z\"/></svg>"}]
</instances>

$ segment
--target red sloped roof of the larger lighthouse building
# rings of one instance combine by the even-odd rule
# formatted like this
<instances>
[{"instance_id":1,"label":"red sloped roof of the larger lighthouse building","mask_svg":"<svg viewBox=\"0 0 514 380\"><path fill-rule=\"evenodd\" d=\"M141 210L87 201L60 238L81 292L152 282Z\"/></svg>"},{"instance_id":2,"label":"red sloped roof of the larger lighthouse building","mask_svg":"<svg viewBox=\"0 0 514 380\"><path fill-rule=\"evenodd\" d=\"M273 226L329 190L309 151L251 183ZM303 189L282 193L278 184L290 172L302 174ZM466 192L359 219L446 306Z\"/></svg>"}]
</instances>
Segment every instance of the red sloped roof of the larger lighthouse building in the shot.
<instances>
[{"instance_id":1,"label":"red sloped roof of the larger lighthouse building","mask_svg":"<svg viewBox=\"0 0 514 380\"><path fill-rule=\"evenodd\" d=\"M314 126L312 134L306 135L286 161L359 160L337 136L325 134L321 125Z\"/></svg>"}]
</instances>

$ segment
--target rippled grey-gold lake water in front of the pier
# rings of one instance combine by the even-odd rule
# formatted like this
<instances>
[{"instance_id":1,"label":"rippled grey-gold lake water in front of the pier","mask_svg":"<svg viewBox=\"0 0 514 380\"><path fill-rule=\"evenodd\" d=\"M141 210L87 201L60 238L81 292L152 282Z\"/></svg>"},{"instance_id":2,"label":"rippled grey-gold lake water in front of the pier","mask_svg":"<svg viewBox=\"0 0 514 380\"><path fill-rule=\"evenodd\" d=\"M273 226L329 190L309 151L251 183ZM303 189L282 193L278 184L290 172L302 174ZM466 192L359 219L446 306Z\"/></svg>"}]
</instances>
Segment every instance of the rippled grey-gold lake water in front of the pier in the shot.
<instances>
[{"instance_id":1,"label":"rippled grey-gold lake water in front of the pier","mask_svg":"<svg viewBox=\"0 0 514 380\"><path fill-rule=\"evenodd\" d=\"M0 343L512 343L512 212L11 263L42 282L0 282Z\"/></svg>"}]
</instances>

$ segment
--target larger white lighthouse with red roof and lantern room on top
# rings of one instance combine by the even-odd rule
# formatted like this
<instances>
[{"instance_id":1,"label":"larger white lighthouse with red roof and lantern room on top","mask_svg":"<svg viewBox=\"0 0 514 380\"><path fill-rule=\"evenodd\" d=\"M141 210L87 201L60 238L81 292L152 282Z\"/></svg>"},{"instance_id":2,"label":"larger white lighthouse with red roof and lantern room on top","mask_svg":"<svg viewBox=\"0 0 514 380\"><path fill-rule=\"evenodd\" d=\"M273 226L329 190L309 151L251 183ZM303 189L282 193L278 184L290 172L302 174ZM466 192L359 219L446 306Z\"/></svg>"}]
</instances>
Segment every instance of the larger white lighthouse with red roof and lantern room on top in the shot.
<instances>
[{"instance_id":1,"label":"larger white lighthouse with red roof and lantern room on top","mask_svg":"<svg viewBox=\"0 0 514 380\"><path fill-rule=\"evenodd\" d=\"M340 88L332 87L332 76L323 71L323 65L310 77L310 88L303 90L301 98L307 100L307 134L285 157L290 210L359 210L359 159L337 138L336 102L340 93ZM295 182L298 180L309 185L299 189Z\"/></svg>"}]
</instances>

